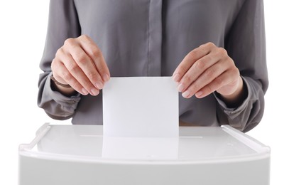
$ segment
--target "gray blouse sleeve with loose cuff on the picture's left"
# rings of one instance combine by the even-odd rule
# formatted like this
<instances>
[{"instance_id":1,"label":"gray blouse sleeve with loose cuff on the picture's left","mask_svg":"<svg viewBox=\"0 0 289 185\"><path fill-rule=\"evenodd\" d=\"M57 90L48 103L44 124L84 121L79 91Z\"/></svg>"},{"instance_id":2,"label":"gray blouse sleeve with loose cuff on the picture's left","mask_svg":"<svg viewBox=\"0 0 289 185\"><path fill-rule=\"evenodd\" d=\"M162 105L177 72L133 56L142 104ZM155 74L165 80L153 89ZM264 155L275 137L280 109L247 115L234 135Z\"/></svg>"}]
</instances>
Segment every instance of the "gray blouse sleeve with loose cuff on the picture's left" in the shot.
<instances>
[{"instance_id":1,"label":"gray blouse sleeve with loose cuff on the picture's left","mask_svg":"<svg viewBox=\"0 0 289 185\"><path fill-rule=\"evenodd\" d=\"M80 94L65 97L50 87L51 61L67 38L80 35L80 23L73 1L50 0L48 31L38 80L38 106L56 120L66 120L75 112Z\"/></svg>"}]
</instances>

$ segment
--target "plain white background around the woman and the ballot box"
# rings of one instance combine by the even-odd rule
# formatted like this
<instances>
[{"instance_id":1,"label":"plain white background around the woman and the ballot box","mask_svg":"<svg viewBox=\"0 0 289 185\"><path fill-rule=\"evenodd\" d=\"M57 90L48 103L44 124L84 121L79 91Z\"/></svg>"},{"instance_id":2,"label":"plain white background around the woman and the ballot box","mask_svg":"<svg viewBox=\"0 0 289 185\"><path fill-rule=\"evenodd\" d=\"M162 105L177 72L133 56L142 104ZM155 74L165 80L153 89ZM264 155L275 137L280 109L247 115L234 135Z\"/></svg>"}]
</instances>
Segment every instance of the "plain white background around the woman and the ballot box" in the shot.
<instances>
[{"instance_id":1,"label":"plain white background around the woman and the ballot box","mask_svg":"<svg viewBox=\"0 0 289 185\"><path fill-rule=\"evenodd\" d=\"M271 184L289 184L289 1L264 1L270 85L263 120L247 134L271 147ZM0 1L0 184L17 184L18 145L44 122L70 124L51 120L36 103L48 4Z\"/></svg>"}]
</instances>

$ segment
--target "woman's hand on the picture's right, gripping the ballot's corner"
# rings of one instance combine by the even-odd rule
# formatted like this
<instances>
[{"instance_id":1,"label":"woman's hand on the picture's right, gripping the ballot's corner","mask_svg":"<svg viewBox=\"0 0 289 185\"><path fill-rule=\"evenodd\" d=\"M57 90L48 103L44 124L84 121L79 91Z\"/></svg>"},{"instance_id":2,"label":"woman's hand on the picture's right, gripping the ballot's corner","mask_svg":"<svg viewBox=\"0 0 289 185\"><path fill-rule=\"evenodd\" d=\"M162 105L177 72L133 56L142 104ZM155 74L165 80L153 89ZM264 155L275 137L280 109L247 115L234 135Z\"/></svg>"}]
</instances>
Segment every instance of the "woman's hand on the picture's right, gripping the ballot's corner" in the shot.
<instances>
[{"instance_id":1,"label":"woman's hand on the picture's right, gripping the ballot's corner","mask_svg":"<svg viewBox=\"0 0 289 185\"><path fill-rule=\"evenodd\" d=\"M178 90L185 98L205 97L217 91L225 100L237 100L243 80L224 48L206 43L187 54L173 73Z\"/></svg>"}]
</instances>

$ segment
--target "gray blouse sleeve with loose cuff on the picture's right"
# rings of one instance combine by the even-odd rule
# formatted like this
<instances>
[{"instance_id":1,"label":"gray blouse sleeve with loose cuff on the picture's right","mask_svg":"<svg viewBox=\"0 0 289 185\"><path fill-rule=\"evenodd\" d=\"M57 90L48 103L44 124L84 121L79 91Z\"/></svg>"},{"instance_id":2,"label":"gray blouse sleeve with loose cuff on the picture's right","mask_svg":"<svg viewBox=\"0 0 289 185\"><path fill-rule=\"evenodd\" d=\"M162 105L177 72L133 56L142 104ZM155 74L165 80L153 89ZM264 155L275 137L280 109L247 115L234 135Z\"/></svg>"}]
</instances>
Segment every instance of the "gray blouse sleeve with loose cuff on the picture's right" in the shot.
<instances>
[{"instance_id":1,"label":"gray blouse sleeve with loose cuff on the picture's right","mask_svg":"<svg viewBox=\"0 0 289 185\"><path fill-rule=\"evenodd\" d=\"M244 102L229 108L217 95L217 117L247 132L261 121L268 88L263 0L246 0L225 40L225 49L241 73L248 94Z\"/></svg>"}]
</instances>

